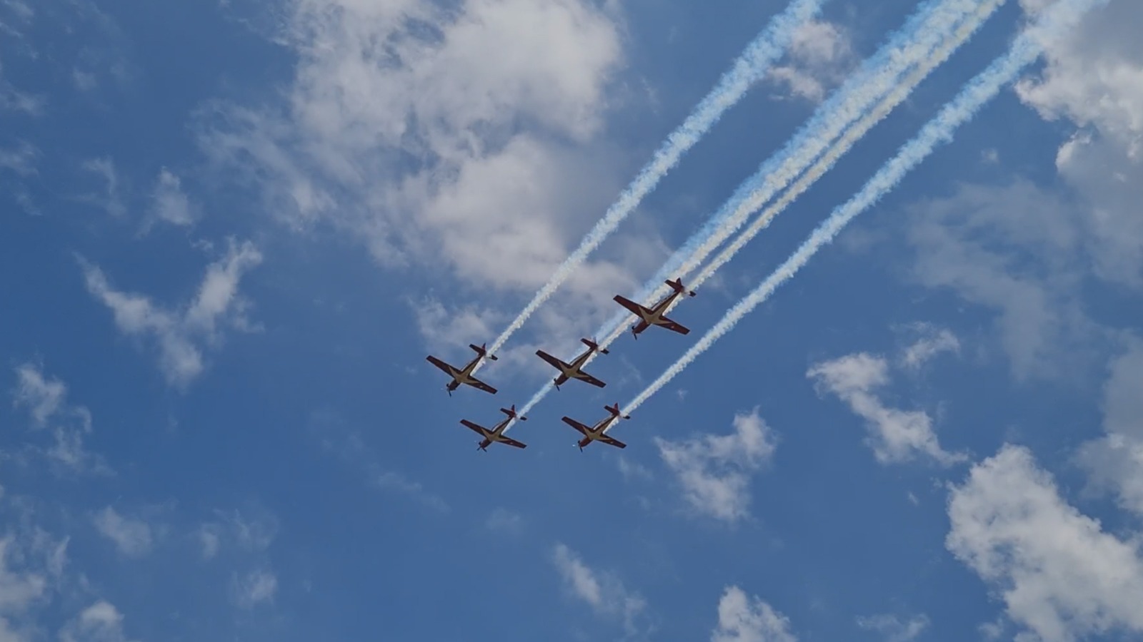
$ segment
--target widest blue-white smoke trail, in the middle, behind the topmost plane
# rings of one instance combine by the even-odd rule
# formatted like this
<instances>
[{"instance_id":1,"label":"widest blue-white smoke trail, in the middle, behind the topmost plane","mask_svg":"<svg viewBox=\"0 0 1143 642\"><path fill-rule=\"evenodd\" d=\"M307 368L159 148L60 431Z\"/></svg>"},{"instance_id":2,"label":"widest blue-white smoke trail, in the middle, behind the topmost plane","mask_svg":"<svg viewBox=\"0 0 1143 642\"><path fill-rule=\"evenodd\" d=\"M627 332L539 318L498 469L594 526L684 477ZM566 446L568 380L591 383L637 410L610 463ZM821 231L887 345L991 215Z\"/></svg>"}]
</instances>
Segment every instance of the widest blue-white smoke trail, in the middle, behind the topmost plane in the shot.
<instances>
[{"instance_id":1,"label":"widest blue-white smoke trail, in the middle, behind the topmost plane","mask_svg":"<svg viewBox=\"0 0 1143 642\"><path fill-rule=\"evenodd\" d=\"M807 190L873 126L900 105L934 69L948 61L1004 2L1005 0L958 0L929 2L919 8L857 73L818 107L785 147L743 182L718 212L666 260L637 300L655 300L665 295L668 290L663 284L664 279L685 276L695 270L745 224L751 212L757 211L805 171L820 154L825 153L831 160L817 163L815 169L823 168L821 174L810 179L804 177L798 183L802 192ZM950 34L953 29L956 31ZM920 66L902 81L902 74L914 64ZM740 247L766 227L776 214L777 211L770 214L761 224L756 223L748 232L749 236L738 239ZM729 258L718 265L726 260ZM701 281L709 279L712 273L713 270L704 270ZM692 288L697 288L698 284L688 283ZM624 315L618 314L605 326L609 328L607 336L610 340L623 334L623 319Z\"/></svg>"}]
</instances>

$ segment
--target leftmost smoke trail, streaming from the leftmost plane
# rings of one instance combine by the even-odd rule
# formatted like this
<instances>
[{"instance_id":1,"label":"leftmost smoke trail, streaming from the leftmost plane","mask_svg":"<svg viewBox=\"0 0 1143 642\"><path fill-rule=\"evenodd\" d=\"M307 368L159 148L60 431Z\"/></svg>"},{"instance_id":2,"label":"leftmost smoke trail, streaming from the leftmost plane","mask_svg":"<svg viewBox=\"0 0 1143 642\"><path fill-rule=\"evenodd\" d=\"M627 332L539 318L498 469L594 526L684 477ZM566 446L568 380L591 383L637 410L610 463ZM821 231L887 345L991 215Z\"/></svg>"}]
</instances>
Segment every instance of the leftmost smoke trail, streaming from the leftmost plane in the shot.
<instances>
[{"instance_id":1,"label":"leftmost smoke trail, streaming from the leftmost plane","mask_svg":"<svg viewBox=\"0 0 1143 642\"><path fill-rule=\"evenodd\" d=\"M604 242L624 218L631 214L658 180L670 171L684 153L697 143L722 114L737 103L751 85L757 82L790 46L799 27L813 19L829 0L793 0L786 9L776 16L762 33L758 35L746 50L735 61L734 67L722 74L718 85L698 104L687 120L668 136L655 157L628 185L608 209L604 218L588 232L580 247L555 268L547 283L531 298L531 302L517 315L515 320L493 342L489 352L495 354L507 342L513 332L519 330L529 316L546 302L557 288L563 283L572 272L580 266L588 255ZM477 369L483 362L477 366Z\"/></svg>"}]
</instances>

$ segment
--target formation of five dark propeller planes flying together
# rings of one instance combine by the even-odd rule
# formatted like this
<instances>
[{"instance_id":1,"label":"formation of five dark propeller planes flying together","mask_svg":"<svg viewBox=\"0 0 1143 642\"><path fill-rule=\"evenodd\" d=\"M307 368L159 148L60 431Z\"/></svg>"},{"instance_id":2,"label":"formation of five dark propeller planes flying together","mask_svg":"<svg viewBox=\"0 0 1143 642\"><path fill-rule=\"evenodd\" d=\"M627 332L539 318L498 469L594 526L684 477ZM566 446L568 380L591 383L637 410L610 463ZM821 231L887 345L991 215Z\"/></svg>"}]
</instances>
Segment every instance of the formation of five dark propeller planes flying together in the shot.
<instances>
[{"instance_id":1,"label":"formation of five dark propeller planes flying together","mask_svg":"<svg viewBox=\"0 0 1143 642\"><path fill-rule=\"evenodd\" d=\"M657 303L655 303L650 307L636 303L620 295L615 296L614 300L616 303L631 311L631 313L633 313L639 319L639 321L631 327L631 334L632 336L634 336L634 338L638 339L641 332L654 326L665 328L668 330L671 330L672 332L678 332L680 335L686 335L690 332L689 328L686 328L681 323L669 319L666 316L666 311L670 310L671 305L673 305L676 299L678 299L680 296L685 294L688 296L695 296L695 292L687 290L682 286L682 279L676 279L673 281L669 280L666 281L666 284L671 287L672 291L669 295L661 298ZM560 372L559 376L552 379L552 383L555 385L557 390L561 385L568 383L570 379L577 379L600 388L607 385L600 379L593 377L592 375L584 372L583 364L588 361L589 358L591 358L592 354L597 352L600 354L608 354L608 350L600 347L597 342L591 339L580 339L580 340L585 346L588 346L588 350L580 353L575 359L572 360L570 363L565 362L555 356L552 356L551 354L542 350L536 351L536 356L539 356L541 359L550 363L553 368L559 370ZM488 385L485 382L481 382L473 374L474 370L477 369L477 366L482 360L485 359L488 359L489 361L497 360L495 354L488 353L487 345L488 344L483 345L470 344L469 347L471 347L477 353L477 355L472 359L472 361L469 361L461 368L457 368L456 366L450 366L431 354L426 358L426 360L430 363L441 369L446 375L451 377L453 380L449 382L447 386L445 386L445 390L448 391L449 396L453 395L453 391L461 387L462 385L472 386L477 390L485 391L489 394L496 394L496 388L494 388L493 386ZM613 406L605 406L604 409L608 411L608 416L597 422L593 426L589 426L586 424L577 422L572 417L562 418L565 424L572 426L577 432L580 432L580 434L583 435L583 439L576 442L581 451L583 451L585 446L591 444L591 442L593 441L606 443L608 446L614 446L615 448L628 447L628 444L606 434L606 432L612 426L612 424L615 423L616 419L621 418L630 419L631 417L629 415L622 414L622 411L620 410L620 404L617 402ZM461 425L475 432L482 438L481 441L477 443L477 448L479 450L487 451L488 447L491 446L493 443L503 443L514 448L527 448L526 443L519 442L505 435L504 431L513 420L526 422L528 418L518 416L514 404L510 408L501 408L501 412L503 412L507 417L504 420L496 424L495 426L493 426L491 428L487 428L477 423L470 422L469 419L461 419Z\"/></svg>"}]
</instances>

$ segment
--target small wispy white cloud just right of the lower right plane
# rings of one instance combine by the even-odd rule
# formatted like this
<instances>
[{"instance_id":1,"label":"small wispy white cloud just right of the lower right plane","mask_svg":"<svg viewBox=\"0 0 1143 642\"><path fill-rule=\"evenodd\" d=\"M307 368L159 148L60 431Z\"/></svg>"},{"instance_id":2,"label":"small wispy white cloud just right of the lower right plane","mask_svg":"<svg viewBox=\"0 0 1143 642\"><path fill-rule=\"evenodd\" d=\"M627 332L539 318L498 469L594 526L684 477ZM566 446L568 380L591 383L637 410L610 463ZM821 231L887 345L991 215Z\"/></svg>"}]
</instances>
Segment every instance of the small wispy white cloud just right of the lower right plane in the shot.
<instances>
[{"instance_id":1,"label":"small wispy white cloud just right of the lower right plane","mask_svg":"<svg viewBox=\"0 0 1143 642\"><path fill-rule=\"evenodd\" d=\"M655 444L695 512L735 522L750 514L750 478L774 456L777 435L756 408L750 415L736 415L728 435L679 442L655 438Z\"/></svg>"}]
</instances>

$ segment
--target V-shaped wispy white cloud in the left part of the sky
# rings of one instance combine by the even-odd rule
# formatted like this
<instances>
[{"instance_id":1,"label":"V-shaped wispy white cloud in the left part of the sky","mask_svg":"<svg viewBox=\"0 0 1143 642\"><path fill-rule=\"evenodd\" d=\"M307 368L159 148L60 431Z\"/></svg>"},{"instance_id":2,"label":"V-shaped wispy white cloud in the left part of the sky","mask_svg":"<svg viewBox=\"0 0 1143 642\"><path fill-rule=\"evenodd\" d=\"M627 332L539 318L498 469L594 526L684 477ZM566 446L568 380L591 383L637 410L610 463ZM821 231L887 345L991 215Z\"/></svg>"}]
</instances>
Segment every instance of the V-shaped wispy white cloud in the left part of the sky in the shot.
<instances>
[{"instance_id":1,"label":"V-shaped wispy white cloud in the left part of the sky","mask_svg":"<svg viewBox=\"0 0 1143 642\"><path fill-rule=\"evenodd\" d=\"M103 271L81 260L88 291L114 313L115 326L129 336L153 339L167 383L185 388L205 369L202 346L217 345L221 323L250 330L249 306L238 294L245 272L262 263L250 242L229 242L226 255L207 266L195 298L182 310L165 310L144 295L115 290Z\"/></svg>"}]
</instances>

